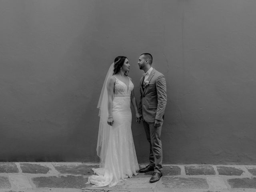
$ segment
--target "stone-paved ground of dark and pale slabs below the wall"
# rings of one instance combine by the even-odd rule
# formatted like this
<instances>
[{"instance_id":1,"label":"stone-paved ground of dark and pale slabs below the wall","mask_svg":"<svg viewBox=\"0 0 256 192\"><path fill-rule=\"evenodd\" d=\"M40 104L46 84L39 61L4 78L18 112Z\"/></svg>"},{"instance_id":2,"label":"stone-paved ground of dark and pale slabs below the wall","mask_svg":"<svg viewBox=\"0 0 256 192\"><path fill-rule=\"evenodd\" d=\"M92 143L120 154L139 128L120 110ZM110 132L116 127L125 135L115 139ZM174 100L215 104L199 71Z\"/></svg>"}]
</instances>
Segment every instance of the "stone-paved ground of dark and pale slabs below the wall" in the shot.
<instances>
[{"instance_id":1,"label":"stone-paved ground of dark and pale slabs below the wall","mask_svg":"<svg viewBox=\"0 0 256 192\"><path fill-rule=\"evenodd\" d=\"M156 183L149 183L148 172L111 188L86 184L94 167L97 164L0 162L0 192L256 192L255 165L166 164Z\"/></svg>"}]
</instances>

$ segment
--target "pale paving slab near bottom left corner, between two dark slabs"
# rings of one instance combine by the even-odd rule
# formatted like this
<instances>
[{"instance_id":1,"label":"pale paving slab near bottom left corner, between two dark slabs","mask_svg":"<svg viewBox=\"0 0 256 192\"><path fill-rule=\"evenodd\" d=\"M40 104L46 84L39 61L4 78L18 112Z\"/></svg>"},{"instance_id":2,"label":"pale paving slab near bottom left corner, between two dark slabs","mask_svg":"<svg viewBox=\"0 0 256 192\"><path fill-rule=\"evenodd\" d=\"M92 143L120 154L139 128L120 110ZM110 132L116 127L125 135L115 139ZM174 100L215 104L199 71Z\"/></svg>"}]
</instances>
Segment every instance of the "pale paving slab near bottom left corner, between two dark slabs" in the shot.
<instances>
[{"instance_id":1,"label":"pale paving slab near bottom left corner, between two dark slabs","mask_svg":"<svg viewBox=\"0 0 256 192\"><path fill-rule=\"evenodd\" d=\"M28 178L24 175L9 175L9 180L16 190L31 190L32 186Z\"/></svg>"}]
</instances>

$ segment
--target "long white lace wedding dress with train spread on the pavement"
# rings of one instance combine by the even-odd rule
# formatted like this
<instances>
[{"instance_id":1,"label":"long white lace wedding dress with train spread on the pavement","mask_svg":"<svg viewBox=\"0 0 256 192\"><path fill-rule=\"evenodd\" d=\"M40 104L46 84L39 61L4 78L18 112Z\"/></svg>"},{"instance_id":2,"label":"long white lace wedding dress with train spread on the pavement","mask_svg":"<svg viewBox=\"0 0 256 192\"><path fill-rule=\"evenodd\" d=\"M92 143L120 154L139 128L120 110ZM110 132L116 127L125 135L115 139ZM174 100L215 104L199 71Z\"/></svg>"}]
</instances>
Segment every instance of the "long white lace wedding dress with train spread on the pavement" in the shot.
<instances>
[{"instance_id":1,"label":"long white lace wedding dress with train spread on the pavement","mask_svg":"<svg viewBox=\"0 0 256 192\"><path fill-rule=\"evenodd\" d=\"M110 128L105 164L102 168L93 168L97 175L88 178L88 183L94 187L111 187L133 174L137 175L139 166L131 130L130 96L133 88L130 78L128 87L116 78L112 110L114 124Z\"/></svg>"}]
</instances>

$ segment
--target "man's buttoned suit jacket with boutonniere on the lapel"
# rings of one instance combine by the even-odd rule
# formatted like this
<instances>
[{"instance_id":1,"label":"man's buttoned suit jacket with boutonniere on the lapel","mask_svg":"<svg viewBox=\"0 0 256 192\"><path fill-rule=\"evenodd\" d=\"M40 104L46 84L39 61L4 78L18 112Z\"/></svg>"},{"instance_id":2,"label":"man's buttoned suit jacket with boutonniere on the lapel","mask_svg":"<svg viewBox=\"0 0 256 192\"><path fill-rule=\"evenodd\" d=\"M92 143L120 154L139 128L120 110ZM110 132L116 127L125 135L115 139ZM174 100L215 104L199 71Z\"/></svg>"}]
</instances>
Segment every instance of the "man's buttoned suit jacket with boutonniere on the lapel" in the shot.
<instances>
[{"instance_id":1,"label":"man's buttoned suit jacket with boutonniere on the lapel","mask_svg":"<svg viewBox=\"0 0 256 192\"><path fill-rule=\"evenodd\" d=\"M149 84L142 88L144 77L140 79L140 101L138 110L144 121L155 122L164 120L167 102L166 81L162 73L153 69L148 77Z\"/></svg>"}]
</instances>

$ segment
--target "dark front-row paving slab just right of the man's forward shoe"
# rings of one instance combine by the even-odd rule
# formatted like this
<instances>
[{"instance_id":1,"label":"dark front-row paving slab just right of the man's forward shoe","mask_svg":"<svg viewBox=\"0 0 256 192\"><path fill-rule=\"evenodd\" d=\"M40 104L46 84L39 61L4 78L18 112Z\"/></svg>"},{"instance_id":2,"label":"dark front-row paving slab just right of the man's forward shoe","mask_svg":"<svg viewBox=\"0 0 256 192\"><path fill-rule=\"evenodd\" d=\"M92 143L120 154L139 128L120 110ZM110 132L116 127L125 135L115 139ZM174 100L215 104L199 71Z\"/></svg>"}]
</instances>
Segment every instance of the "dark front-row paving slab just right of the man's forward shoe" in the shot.
<instances>
[{"instance_id":1,"label":"dark front-row paving slab just right of the man's forward shoe","mask_svg":"<svg viewBox=\"0 0 256 192\"><path fill-rule=\"evenodd\" d=\"M164 188L187 188L187 189L208 189L208 183L204 178L181 178L181 177L162 177Z\"/></svg>"}]
</instances>

